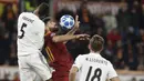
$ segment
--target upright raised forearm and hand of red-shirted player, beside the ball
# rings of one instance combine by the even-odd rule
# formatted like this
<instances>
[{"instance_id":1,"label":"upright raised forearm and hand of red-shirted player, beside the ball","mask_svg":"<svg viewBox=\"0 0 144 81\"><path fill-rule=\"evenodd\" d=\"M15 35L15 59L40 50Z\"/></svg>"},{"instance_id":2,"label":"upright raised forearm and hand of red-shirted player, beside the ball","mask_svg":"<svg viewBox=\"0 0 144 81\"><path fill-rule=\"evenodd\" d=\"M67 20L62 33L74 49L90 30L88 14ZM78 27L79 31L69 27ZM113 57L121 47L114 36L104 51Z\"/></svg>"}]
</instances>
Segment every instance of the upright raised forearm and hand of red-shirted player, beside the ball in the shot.
<instances>
[{"instance_id":1,"label":"upright raised forearm and hand of red-shirted player, beside the ball","mask_svg":"<svg viewBox=\"0 0 144 81\"><path fill-rule=\"evenodd\" d=\"M74 34L76 30L79 30L79 27L80 27L79 16L75 16L75 24L66 34Z\"/></svg>"}]
</instances>

